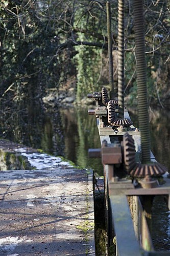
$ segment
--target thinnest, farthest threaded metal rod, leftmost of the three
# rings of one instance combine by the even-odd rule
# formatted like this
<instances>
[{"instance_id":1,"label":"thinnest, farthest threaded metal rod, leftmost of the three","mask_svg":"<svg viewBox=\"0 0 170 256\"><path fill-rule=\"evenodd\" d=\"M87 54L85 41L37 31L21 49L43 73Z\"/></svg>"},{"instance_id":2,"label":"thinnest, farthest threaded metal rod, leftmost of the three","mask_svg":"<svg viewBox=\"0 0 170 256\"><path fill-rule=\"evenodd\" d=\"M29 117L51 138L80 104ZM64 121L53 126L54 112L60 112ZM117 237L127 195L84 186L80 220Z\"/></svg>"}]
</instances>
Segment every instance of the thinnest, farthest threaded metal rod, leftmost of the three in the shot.
<instances>
[{"instance_id":1,"label":"thinnest, farthest threaded metal rod, leftmost of the three","mask_svg":"<svg viewBox=\"0 0 170 256\"><path fill-rule=\"evenodd\" d=\"M110 99L114 99L113 55L112 55L112 32L111 32L111 7L110 7L110 1L106 2L106 16L107 16L107 36L108 36L108 55L109 55Z\"/></svg>"}]
</instances>

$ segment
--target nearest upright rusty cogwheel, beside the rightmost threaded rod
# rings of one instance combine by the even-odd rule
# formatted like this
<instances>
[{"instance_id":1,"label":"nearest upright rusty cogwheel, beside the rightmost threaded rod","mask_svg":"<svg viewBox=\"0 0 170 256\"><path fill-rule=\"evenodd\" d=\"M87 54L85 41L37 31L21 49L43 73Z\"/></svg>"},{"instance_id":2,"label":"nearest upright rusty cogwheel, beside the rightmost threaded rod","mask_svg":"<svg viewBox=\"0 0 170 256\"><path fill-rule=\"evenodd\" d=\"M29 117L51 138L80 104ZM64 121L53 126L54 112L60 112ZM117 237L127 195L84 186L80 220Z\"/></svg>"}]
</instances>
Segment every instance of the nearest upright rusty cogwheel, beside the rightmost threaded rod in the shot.
<instances>
[{"instance_id":1,"label":"nearest upright rusty cogwheel, beside the rightmost threaded rod","mask_svg":"<svg viewBox=\"0 0 170 256\"><path fill-rule=\"evenodd\" d=\"M123 148L124 148L124 162L127 172L136 165L135 162L135 144L133 138L129 133L125 133L123 136Z\"/></svg>"}]
</instances>

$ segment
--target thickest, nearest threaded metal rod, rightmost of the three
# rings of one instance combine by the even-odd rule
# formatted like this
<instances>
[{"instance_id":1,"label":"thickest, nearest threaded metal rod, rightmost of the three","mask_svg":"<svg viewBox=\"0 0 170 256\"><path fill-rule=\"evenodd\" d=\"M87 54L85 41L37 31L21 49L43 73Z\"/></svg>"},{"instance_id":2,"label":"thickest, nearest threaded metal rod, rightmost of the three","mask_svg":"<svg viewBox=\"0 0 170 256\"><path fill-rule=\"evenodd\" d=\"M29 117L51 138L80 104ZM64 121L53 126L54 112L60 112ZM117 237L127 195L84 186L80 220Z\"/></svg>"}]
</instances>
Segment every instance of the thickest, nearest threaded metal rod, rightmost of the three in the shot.
<instances>
[{"instance_id":1,"label":"thickest, nearest threaded metal rod, rightmost of the three","mask_svg":"<svg viewBox=\"0 0 170 256\"><path fill-rule=\"evenodd\" d=\"M147 100L147 77L145 63L144 46L144 18L143 3L141 0L133 0L134 6L134 27L136 42L136 75L137 75L137 94L138 94L138 120L141 132L141 154L142 163L151 161L150 157L150 131L149 131L149 112Z\"/></svg>"}]
</instances>

